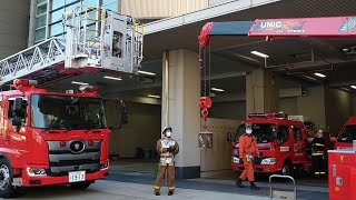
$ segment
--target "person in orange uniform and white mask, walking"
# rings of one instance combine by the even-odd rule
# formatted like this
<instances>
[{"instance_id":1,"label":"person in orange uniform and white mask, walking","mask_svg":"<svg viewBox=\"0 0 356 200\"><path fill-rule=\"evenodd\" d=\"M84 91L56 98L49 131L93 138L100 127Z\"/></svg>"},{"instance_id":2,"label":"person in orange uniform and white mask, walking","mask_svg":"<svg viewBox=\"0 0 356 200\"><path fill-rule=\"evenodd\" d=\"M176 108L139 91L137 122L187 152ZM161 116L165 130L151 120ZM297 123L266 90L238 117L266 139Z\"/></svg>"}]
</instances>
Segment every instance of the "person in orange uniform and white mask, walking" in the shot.
<instances>
[{"instance_id":1,"label":"person in orange uniform and white mask, walking","mask_svg":"<svg viewBox=\"0 0 356 200\"><path fill-rule=\"evenodd\" d=\"M246 133L239 138L239 157L244 160L245 170L237 180L236 184L239 188L244 188L243 181L248 179L250 182L253 190L259 190L255 184L255 176L254 176L254 158L259 157L259 151L257 148L256 138L251 136L253 126L250 123L246 123Z\"/></svg>"}]
</instances>

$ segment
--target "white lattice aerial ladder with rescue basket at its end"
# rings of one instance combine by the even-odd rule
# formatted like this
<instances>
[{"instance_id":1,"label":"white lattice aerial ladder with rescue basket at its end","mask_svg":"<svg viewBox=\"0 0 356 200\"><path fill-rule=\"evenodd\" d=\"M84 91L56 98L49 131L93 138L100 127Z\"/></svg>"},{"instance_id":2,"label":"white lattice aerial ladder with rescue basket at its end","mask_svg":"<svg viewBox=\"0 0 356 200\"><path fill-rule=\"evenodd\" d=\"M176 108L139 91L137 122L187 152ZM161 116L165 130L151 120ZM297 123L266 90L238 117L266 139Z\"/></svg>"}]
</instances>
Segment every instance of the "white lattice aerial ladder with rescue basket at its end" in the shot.
<instances>
[{"instance_id":1,"label":"white lattice aerial ladder with rescue basket at its end","mask_svg":"<svg viewBox=\"0 0 356 200\"><path fill-rule=\"evenodd\" d=\"M0 61L0 86L16 79L46 86L98 71L137 73L144 24L103 8L77 7L62 14L65 34L49 38Z\"/></svg>"}]
</instances>

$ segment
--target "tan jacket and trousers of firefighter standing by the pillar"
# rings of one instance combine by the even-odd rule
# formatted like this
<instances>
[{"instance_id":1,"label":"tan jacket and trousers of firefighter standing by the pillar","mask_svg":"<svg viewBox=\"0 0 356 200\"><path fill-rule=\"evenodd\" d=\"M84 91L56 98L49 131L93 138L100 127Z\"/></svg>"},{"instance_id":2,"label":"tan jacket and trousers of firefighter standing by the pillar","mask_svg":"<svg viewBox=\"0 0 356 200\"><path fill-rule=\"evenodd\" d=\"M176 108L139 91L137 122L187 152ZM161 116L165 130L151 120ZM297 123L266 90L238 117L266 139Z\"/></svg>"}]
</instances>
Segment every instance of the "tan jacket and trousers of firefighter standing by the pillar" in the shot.
<instances>
[{"instance_id":1,"label":"tan jacket and trousers of firefighter standing by the pillar","mask_svg":"<svg viewBox=\"0 0 356 200\"><path fill-rule=\"evenodd\" d=\"M174 152L168 152L167 149L175 148ZM175 156L179 152L178 142L171 138L164 138L157 141L157 152L160 156L159 169L155 184L155 192L159 192L164 183L166 170L168 172L168 189L175 191Z\"/></svg>"}]
</instances>

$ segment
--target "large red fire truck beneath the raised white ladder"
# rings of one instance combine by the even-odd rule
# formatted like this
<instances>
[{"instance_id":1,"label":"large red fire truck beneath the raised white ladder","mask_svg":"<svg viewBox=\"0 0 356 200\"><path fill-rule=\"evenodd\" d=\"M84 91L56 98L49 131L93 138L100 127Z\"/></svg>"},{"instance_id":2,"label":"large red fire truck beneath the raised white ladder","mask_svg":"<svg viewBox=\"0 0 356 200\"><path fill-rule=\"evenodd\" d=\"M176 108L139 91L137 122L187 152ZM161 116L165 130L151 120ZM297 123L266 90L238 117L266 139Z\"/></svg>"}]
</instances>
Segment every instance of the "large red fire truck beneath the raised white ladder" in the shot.
<instances>
[{"instance_id":1,"label":"large red fire truck beneath the raised white ladder","mask_svg":"<svg viewBox=\"0 0 356 200\"><path fill-rule=\"evenodd\" d=\"M0 197L19 187L69 183L86 189L109 173L108 144L99 88L49 92L37 81L16 80L0 92Z\"/></svg>"}]
</instances>

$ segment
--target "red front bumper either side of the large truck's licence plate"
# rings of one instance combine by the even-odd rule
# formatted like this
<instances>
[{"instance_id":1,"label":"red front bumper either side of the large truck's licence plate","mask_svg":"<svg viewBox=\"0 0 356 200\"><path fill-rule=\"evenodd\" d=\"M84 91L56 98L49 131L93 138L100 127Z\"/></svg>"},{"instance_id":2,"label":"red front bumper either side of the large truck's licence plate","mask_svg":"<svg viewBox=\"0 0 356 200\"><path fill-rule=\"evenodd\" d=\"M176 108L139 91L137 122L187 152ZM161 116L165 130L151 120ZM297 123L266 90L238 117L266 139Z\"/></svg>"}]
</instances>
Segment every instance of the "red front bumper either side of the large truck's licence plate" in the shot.
<instances>
[{"instance_id":1,"label":"red front bumper either side of the large truck's licence plate","mask_svg":"<svg viewBox=\"0 0 356 200\"><path fill-rule=\"evenodd\" d=\"M99 179L105 179L109 176L109 169L102 169L93 173L86 173L86 181L95 181ZM29 176L24 170L22 173L22 187L40 187L49 184L68 184L69 177L50 177L50 176Z\"/></svg>"}]
</instances>

